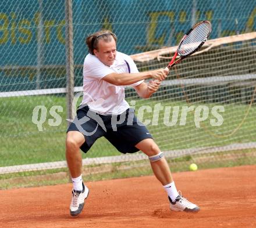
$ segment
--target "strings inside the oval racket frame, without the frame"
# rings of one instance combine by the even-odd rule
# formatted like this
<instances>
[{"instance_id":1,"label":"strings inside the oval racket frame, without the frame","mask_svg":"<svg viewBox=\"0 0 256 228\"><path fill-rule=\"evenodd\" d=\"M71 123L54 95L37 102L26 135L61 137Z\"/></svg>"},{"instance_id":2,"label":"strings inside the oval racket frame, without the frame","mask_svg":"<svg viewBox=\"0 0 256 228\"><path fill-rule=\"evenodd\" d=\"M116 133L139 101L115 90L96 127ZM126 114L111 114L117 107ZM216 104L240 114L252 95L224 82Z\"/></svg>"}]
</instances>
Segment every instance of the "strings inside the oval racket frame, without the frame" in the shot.
<instances>
[{"instance_id":1,"label":"strings inside the oval racket frame, without the frame","mask_svg":"<svg viewBox=\"0 0 256 228\"><path fill-rule=\"evenodd\" d=\"M205 42L210 31L211 25L209 23L202 23L195 27L180 45L179 55L186 56L194 52L202 42Z\"/></svg>"}]
</instances>

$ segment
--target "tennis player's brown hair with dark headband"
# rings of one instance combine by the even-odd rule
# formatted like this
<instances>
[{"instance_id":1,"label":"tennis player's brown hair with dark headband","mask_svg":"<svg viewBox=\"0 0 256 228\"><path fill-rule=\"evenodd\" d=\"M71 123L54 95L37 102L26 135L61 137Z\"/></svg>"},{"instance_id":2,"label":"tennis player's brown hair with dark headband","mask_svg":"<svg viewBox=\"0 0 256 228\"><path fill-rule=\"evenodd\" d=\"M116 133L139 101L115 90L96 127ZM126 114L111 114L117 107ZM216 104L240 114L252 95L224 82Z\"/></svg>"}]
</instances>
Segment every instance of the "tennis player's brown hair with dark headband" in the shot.
<instances>
[{"instance_id":1,"label":"tennis player's brown hair with dark headband","mask_svg":"<svg viewBox=\"0 0 256 228\"><path fill-rule=\"evenodd\" d=\"M114 39L115 42L117 41L116 35L109 30L94 32L86 38L86 44L91 55L94 55L94 49L98 50L98 43L101 39L103 39L105 42L111 42L112 39Z\"/></svg>"}]
</instances>

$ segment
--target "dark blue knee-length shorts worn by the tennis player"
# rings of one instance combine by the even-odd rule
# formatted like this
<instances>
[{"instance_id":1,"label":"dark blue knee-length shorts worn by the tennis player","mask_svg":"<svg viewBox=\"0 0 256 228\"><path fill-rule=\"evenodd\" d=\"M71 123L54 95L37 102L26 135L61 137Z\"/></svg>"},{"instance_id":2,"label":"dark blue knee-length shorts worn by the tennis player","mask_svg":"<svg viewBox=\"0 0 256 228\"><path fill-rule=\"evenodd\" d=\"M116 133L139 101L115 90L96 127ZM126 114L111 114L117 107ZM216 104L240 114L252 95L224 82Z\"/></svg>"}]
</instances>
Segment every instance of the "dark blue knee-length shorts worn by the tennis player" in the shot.
<instances>
[{"instance_id":1,"label":"dark blue knee-length shorts worn by the tennis player","mask_svg":"<svg viewBox=\"0 0 256 228\"><path fill-rule=\"evenodd\" d=\"M101 115L89 110L88 106L80 106L77 116L67 129L69 131L83 133L86 142L80 149L84 153L102 136L124 154L137 152L137 143L143 139L152 139L145 125L137 120L133 108L120 115Z\"/></svg>"}]
</instances>

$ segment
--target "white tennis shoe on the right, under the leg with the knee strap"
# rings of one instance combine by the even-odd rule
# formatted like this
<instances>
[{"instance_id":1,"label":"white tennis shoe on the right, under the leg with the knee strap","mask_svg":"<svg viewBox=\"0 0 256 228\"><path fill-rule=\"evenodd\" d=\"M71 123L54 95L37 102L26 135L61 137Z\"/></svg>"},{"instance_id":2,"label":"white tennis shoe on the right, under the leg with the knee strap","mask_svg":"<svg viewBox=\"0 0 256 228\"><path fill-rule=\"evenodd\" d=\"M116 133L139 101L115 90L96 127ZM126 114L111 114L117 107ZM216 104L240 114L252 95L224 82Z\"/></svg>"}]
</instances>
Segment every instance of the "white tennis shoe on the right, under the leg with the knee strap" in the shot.
<instances>
[{"instance_id":1,"label":"white tennis shoe on the right, under the leg with the knee strap","mask_svg":"<svg viewBox=\"0 0 256 228\"><path fill-rule=\"evenodd\" d=\"M186 198L182 196L182 193L179 191L179 196L175 199L175 201L172 201L170 197L168 196L170 201L170 209L172 211L185 211L185 212L198 212L200 211L200 207L193 204Z\"/></svg>"}]
</instances>

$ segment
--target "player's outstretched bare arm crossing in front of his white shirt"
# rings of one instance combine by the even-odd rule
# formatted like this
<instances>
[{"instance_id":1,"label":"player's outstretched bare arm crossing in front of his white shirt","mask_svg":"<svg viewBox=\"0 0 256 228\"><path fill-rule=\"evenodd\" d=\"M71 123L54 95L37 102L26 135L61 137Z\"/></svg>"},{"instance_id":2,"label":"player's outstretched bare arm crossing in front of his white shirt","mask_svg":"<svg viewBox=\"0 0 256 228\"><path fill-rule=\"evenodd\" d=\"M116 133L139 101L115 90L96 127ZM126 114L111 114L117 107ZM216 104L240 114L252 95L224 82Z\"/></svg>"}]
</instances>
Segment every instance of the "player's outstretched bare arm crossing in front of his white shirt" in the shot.
<instances>
[{"instance_id":1,"label":"player's outstretched bare arm crossing in front of his white shirt","mask_svg":"<svg viewBox=\"0 0 256 228\"><path fill-rule=\"evenodd\" d=\"M111 73L106 75L103 80L113 84L113 85L131 85L138 81L148 78L158 79L159 81L163 81L169 73L169 70L166 69L158 69L152 71L145 71L141 73Z\"/></svg>"}]
</instances>

